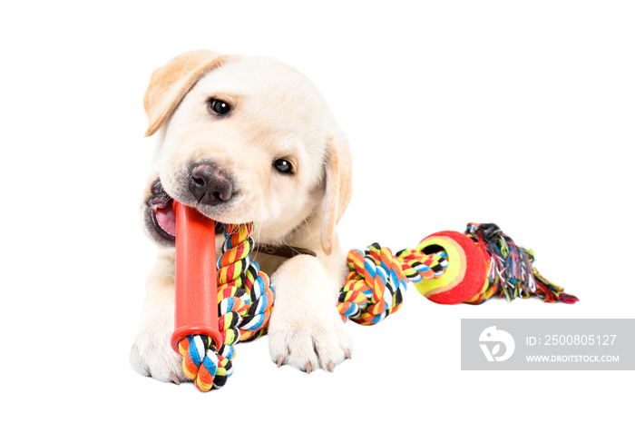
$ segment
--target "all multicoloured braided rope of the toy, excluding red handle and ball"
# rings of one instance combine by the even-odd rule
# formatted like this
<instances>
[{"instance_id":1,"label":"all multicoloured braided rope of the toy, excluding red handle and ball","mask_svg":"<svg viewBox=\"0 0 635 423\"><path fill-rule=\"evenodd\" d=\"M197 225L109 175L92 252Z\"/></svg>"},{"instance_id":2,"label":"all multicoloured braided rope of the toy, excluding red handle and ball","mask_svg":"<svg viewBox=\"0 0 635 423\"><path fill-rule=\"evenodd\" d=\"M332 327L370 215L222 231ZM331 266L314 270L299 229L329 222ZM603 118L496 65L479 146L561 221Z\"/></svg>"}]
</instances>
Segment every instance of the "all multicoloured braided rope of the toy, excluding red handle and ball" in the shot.
<instances>
[{"instance_id":1,"label":"all multicoloured braided rope of the toy, excluding red handle and ball","mask_svg":"<svg viewBox=\"0 0 635 423\"><path fill-rule=\"evenodd\" d=\"M201 391L221 388L233 372L234 344L266 333L275 293L269 278L249 260L254 241L253 225L226 225L223 254L218 268L219 330L222 347L212 339L190 335L181 339L183 372ZM572 303L578 299L546 280L532 266L533 252L518 247L493 223L469 223L465 235L484 251L489 271L483 289L466 303L480 304L494 297L513 300L537 296L545 302ZM392 251L374 243L366 251L347 254L349 273L340 291L337 310L342 320L374 325L401 308L407 282L441 278L448 268L446 251L424 252L424 241L415 249Z\"/></svg>"}]
</instances>

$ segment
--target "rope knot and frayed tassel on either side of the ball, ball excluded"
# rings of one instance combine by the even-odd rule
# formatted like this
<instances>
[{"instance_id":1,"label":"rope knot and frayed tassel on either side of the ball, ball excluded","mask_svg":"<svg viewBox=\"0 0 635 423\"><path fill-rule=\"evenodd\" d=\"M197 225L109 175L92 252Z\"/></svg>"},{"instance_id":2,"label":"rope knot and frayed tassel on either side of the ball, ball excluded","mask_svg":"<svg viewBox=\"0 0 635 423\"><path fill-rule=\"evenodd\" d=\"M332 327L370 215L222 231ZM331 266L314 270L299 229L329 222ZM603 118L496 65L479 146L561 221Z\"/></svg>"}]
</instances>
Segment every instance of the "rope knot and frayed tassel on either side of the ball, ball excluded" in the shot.
<instances>
[{"instance_id":1,"label":"rope knot and frayed tassel on either side of the ball, ball excluded","mask_svg":"<svg viewBox=\"0 0 635 423\"><path fill-rule=\"evenodd\" d=\"M464 233L481 247L489 263L483 289L465 303L481 304L503 296L510 301L530 296L544 302L578 301L544 278L533 267L533 251L518 247L497 225L469 223ZM416 284L441 278L448 266L447 253L442 250L425 254L423 243L415 249L399 251L396 256L377 243L367 251L349 251L350 272L337 303L342 320L374 325L399 310L406 281Z\"/></svg>"}]
</instances>

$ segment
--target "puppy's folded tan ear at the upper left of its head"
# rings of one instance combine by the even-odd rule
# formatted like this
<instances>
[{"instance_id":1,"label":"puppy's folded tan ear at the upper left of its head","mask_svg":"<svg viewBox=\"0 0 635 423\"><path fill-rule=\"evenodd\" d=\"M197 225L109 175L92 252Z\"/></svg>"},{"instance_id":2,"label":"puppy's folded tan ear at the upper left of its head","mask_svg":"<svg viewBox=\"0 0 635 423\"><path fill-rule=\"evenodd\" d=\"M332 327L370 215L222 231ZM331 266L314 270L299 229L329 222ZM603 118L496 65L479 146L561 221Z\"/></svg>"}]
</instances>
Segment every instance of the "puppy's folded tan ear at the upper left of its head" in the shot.
<instances>
[{"instance_id":1,"label":"puppy's folded tan ear at the upper left of its head","mask_svg":"<svg viewBox=\"0 0 635 423\"><path fill-rule=\"evenodd\" d=\"M145 136L156 133L171 116L181 100L200 78L222 64L223 57L211 50L194 50L179 54L152 73L143 96L148 115Z\"/></svg>"}]
</instances>

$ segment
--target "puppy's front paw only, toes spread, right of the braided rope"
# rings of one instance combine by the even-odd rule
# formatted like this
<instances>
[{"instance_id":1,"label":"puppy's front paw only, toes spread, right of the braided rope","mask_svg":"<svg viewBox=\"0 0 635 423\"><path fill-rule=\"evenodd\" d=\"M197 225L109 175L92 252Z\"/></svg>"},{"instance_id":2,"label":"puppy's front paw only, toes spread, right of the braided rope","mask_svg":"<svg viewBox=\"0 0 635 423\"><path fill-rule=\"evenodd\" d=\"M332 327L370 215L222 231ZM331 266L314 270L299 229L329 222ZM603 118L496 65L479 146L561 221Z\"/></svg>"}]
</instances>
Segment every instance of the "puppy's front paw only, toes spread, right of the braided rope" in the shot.
<instances>
[{"instance_id":1,"label":"puppy's front paw only, toes spread, right of the braided rope","mask_svg":"<svg viewBox=\"0 0 635 423\"><path fill-rule=\"evenodd\" d=\"M269 354L280 367L288 364L310 373L333 371L350 359L352 341L337 309L287 312L274 309L269 322Z\"/></svg>"}]
</instances>

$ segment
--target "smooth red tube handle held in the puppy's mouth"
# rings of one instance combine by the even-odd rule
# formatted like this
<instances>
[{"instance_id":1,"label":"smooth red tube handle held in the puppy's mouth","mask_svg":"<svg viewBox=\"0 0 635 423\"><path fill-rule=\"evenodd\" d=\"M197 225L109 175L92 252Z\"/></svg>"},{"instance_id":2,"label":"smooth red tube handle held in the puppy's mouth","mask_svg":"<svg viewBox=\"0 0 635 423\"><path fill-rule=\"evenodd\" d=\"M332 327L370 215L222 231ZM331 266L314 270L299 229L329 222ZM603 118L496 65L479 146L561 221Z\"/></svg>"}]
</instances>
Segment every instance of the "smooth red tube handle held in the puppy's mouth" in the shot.
<instances>
[{"instance_id":1,"label":"smooth red tube handle held in the puppy's mouth","mask_svg":"<svg viewBox=\"0 0 635 423\"><path fill-rule=\"evenodd\" d=\"M171 347L188 335L207 335L222 346L216 285L214 221L174 201L176 214L176 309Z\"/></svg>"}]
</instances>

